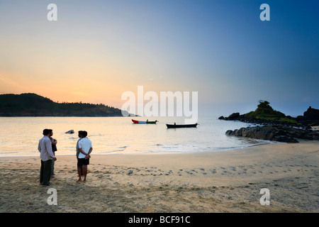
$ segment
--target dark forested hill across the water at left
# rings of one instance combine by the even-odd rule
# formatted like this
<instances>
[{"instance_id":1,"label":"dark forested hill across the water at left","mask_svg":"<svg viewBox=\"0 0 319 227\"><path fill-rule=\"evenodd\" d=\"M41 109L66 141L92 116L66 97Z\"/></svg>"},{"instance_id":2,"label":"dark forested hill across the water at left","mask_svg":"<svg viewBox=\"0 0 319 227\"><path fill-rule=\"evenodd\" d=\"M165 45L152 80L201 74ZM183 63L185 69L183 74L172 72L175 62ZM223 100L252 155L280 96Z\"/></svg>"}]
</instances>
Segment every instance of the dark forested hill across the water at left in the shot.
<instances>
[{"instance_id":1,"label":"dark forested hill across the water at left","mask_svg":"<svg viewBox=\"0 0 319 227\"><path fill-rule=\"evenodd\" d=\"M1 94L0 116L122 116L104 104L57 103L33 93Z\"/></svg>"}]
</instances>

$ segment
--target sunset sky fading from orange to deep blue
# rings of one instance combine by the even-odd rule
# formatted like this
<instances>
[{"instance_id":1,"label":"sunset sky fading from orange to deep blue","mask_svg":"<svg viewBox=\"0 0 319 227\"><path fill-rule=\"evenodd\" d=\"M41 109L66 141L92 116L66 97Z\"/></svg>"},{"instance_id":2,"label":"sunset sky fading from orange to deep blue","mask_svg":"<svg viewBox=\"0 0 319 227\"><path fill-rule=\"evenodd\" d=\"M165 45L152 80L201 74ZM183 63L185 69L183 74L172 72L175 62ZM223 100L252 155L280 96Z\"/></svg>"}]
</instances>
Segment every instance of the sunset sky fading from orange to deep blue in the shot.
<instances>
[{"instance_id":1,"label":"sunset sky fading from orange to deep blue","mask_svg":"<svg viewBox=\"0 0 319 227\"><path fill-rule=\"evenodd\" d=\"M49 4L57 21L49 21ZM259 18L262 4L270 21ZM123 92L198 92L198 115L259 100L319 109L319 2L0 0L0 94L121 109Z\"/></svg>"}]
</instances>

